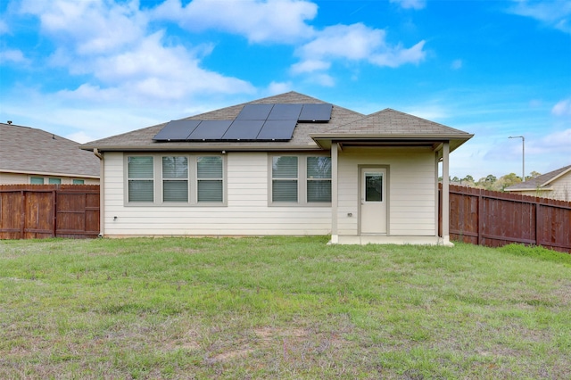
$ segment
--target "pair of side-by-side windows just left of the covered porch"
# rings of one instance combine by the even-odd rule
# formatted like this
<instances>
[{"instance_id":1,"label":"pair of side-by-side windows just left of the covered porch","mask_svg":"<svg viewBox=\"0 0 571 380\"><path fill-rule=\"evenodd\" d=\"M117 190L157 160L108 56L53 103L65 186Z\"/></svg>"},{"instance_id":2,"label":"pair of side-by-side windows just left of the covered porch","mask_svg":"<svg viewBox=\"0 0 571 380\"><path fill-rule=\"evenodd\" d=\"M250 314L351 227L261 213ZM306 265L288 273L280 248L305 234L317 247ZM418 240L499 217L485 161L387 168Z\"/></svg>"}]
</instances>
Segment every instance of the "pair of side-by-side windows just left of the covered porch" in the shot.
<instances>
[{"instance_id":1,"label":"pair of side-by-side windows just left of the covered porch","mask_svg":"<svg viewBox=\"0 0 571 380\"><path fill-rule=\"evenodd\" d=\"M331 157L273 156L270 203L329 205Z\"/></svg>"}]
</instances>

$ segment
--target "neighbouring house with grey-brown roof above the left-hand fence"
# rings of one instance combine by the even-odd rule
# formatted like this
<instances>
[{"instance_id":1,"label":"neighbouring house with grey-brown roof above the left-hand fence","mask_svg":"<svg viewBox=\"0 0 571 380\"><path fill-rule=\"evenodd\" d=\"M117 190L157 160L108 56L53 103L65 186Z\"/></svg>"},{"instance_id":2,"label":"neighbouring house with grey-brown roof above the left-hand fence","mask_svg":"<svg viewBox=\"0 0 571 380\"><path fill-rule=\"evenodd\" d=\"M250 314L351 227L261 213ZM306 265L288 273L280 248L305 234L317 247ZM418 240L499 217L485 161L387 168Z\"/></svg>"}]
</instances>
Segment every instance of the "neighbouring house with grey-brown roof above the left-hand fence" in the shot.
<instances>
[{"instance_id":1,"label":"neighbouring house with grey-brown roof above the left-hand fence","mask_svg":"<svg viewBox=\"0 0 571 380\"><path fill-rule=\"evenodd\" d=\"M0 123L0 185L97 185L99 171L99 159L75 141Z\"/></svg>"}]
</instances>

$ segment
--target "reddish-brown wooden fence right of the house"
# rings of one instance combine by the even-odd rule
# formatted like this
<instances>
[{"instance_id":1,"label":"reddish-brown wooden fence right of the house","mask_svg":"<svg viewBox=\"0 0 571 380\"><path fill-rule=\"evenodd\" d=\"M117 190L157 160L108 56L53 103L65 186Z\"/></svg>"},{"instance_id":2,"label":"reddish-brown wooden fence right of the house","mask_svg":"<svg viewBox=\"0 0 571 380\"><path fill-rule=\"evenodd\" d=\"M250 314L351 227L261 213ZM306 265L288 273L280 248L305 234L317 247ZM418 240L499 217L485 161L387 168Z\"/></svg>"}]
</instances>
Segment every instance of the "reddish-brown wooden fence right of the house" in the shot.
<instances>
[{"instance_id":1,"label":"reddish-brown wooden fence right of the house","mask_svg":"<svg viewBox=\"0 0 571 380\"><path fill-rule=\"evenodd\" d=\"M450 236L490 247L534 244L571 253L571 202L450 186Z\"/></svg>"}]
</instances>

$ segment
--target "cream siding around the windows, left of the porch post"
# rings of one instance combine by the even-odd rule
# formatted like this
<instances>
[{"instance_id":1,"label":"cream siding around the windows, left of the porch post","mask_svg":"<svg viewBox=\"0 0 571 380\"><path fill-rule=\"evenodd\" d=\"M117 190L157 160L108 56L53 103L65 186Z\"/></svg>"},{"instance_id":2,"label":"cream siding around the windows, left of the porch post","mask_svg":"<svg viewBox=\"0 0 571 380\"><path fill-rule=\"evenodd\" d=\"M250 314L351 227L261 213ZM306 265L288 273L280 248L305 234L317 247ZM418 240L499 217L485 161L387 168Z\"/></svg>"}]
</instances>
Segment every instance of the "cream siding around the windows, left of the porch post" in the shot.
<instances>
[{"instance_id":1,"label":"cream siding around the windows, left of the porch post","mask_svg":"<svg viewBox=\"0 0 571 380\"><path fill-rule=\"evenodd\" d=\"M124 204L123 154L104 156L105 235L327 235L330 207L270 207L266 153L228 153L228 205ZM116 220L113 220L117 217Z\"/></svg>"}]
</instances>

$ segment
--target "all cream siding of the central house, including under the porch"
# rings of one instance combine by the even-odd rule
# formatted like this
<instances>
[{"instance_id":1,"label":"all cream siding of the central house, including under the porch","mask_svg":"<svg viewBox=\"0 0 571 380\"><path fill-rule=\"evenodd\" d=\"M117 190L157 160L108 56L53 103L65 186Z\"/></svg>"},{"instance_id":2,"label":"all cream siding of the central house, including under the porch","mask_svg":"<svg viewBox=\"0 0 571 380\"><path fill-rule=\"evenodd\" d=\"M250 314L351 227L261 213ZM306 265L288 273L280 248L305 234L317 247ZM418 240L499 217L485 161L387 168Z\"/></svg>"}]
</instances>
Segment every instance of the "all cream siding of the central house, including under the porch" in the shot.
<instances>
[{"instance_id":1,"label":"all cream siding of the central house, including under the porch","mask_svg":"<svg viewBox=\"0 0 571 380\"><path fill-rule=\"evenodd\" d=\"M228 153L227 205L125 206L123 153L104 157L105 235L327 235L331 208L269 206L267 153ZM388 171L390 235L435 235L434 153L346 148L339 154L338 232L359 234L359 165ZM349 216L348 214L351 214ZM116 220L113 220L117 217Z\"/></svg>"}]
</instances>

